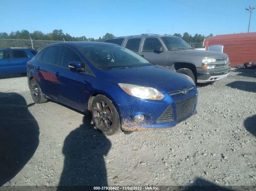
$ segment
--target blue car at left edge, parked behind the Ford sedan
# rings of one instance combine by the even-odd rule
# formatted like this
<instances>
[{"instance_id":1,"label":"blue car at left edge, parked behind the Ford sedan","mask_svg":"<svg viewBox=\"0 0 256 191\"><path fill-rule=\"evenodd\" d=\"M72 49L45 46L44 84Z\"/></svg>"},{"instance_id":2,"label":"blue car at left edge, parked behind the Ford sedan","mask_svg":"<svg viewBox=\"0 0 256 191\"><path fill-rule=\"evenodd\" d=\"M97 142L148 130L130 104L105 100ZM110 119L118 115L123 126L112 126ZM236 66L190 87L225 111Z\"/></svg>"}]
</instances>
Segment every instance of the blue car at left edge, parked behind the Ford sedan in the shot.
<instances>
[{"instance_id":1,"label":"blue car at left edge, parked behind the Ford sedan","mask_svg":"<svg viewBox=\"0 0 256 191\"><path fill-rule=\"evenodd\" d=\"M0 49L0 74L26 73L26 64L37 51L28 48Z\"/></svg>"}]
</instances>

